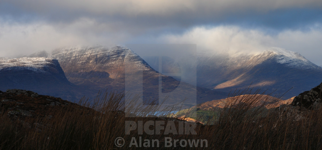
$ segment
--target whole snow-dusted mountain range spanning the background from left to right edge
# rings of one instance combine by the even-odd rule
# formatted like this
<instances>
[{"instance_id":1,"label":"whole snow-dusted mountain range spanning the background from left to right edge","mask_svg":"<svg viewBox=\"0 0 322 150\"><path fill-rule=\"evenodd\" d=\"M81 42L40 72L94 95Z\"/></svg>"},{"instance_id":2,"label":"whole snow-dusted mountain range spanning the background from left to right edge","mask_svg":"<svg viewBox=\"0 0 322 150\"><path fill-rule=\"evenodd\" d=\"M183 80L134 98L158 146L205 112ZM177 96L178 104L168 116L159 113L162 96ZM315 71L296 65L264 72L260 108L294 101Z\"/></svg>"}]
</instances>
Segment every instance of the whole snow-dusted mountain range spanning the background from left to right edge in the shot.
<instances>
[{"instance_id":1,"label":"whole snow-dusted mountain range spanning the background from left to right edge","mask_svg":"<svg viewBox=\"0 0 322 150\"><path fill-rule=\"evenodd\" d=\"M247 88L261 89L265 94L273 92L271 96L282 96L279 101L283 101L322 81L321 67L299 53L280 48L234 57L198 54L196 59L197 70L190 73L197 74L197 86L163 75L155 67L155 61L143 59L126 47L41 51L23 58L0 58L0 90L32 90L77 102L83 96L93 100L99 90L122 92L129 88L135 91L134 86L126 86L126 80L131 80L141 84L142 92L138 94L142 95L143 103L159 98L161 102L160 93L171 94L175 90L166 102L174 105L185 100L182 107L190 108L227 98L231 91Z\"/></svg>"}]
</instances>

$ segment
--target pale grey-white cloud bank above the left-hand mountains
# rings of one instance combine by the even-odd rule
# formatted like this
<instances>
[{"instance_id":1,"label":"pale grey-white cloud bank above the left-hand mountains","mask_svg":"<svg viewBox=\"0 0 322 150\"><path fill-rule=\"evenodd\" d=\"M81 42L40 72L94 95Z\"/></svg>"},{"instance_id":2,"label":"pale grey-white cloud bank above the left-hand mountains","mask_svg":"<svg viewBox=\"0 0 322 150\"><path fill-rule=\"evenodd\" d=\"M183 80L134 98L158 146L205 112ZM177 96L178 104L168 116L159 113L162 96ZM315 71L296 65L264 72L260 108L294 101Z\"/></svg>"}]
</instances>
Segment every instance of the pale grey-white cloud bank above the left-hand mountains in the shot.
<instances>
[{"instance_id":1,"label":"pale grey-white cloud bank above the left-hand mountains","mask_svg":"<svg viewBox=\"0 0 322 150\"><path fill-rule=\"evenodd\" d=\"M112 32L112 25L81 18L70 24L43 22L19 24L0 19L0 57L17 57L40 50L77 45L114 45L127 39L122 32Z\"/></svg>"}]
</instances>

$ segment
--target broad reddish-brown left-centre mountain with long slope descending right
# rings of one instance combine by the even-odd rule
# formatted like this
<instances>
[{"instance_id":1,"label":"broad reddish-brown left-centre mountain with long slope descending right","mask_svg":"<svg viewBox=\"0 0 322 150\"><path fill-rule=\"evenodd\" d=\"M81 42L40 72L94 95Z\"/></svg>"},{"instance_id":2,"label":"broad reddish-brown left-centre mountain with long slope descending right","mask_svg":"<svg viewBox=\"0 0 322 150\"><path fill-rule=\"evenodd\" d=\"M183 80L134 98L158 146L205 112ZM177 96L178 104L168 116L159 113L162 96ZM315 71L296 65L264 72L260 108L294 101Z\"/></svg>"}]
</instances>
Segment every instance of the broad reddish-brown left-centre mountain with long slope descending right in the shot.
<instances>
[{"instance_id":1,"label":"broad reddish-brown left-centre mountain with long slope descending right","mask_svg":"<svg viewBox=\"0 0 322 150\"><path fill-rule=\"evenodd\" d=\"M185 101L187 107L196 103L196 98L198 99L197 103L201 103L213 98L226 98L228 95L225 92L199 88L163 75L126 47L60 48L50 53L34 53L29 57L37 57L38 55L47 55L48 58L57 59L71 83L95 94L99 90L105 91L106 89L109 91L138 90L138 94L143 95L144 101L154 98L162 100L164 96L169 96L167 101L172 104L181 102L188 97L191 101L189 99ZM166 95L168 93L170 95Z\"/></svg>"}]
</instances>

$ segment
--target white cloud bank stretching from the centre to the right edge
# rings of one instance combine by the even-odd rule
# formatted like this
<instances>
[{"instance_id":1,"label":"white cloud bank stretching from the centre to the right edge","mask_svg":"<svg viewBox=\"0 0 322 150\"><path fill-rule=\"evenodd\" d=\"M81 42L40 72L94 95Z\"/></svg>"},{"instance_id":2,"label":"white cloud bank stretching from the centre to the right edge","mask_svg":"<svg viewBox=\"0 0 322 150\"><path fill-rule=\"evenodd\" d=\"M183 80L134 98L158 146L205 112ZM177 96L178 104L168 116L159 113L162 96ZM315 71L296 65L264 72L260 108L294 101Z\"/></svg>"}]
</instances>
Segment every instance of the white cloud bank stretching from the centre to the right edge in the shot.
<instances>
[{"instance_id":1,"label":"white cloud bank stretching from the centre to the right edge","mask_svg":"<svg viewBox=\"0 0 322 150\"><path fill-rule=\"evenodd\" d=\"M197 44L197 50L230 55L254 53L268 47L280 47L299 52L308 60L321 65L322 28L317 25L309 31L281 31L269 35L262 30L243 29L238 26L195 27L181 35L167 34L160 41L174 44Z\"/></svg>"}]
</instances>

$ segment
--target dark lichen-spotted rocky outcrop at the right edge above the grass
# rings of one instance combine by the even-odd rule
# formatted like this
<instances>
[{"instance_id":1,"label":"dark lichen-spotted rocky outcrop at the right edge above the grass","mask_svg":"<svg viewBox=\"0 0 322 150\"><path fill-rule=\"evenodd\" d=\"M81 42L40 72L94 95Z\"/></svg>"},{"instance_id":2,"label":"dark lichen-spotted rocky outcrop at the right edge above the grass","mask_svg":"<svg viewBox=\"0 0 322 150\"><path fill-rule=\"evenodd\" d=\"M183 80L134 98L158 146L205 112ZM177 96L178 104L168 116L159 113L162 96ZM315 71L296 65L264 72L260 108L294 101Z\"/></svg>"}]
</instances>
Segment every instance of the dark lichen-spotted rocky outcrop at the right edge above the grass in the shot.
<instances>
[{"instance_id":1,"label":"dark lichen-spotted rocky outcrop at the right edge above the grass","mask_svg":"<svg viewBox=\"0 0 322 150\"><path fill-rule=\"evenodd\" d=\"M305 91L294 98L292 106L300 106L304 108L315 108L317 103L321 103L322 99L322 83L315 88Z\"/></svg>"}]
</instances>

